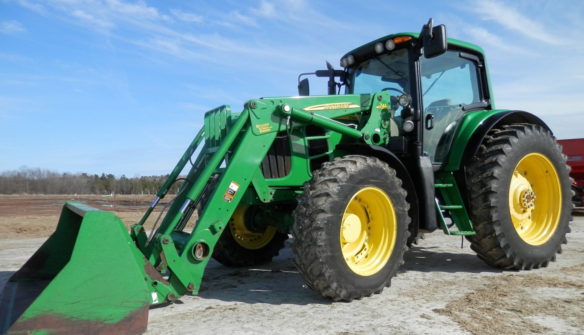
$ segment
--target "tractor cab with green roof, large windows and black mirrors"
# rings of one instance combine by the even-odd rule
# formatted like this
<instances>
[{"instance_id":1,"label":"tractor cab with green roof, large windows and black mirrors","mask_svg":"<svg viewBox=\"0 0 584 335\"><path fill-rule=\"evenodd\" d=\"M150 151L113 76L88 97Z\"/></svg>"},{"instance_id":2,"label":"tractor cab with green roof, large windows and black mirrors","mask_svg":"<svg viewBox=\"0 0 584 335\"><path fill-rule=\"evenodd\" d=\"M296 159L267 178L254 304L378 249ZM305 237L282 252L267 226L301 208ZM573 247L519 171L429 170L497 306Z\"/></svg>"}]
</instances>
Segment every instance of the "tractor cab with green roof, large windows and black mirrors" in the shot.
<instances>
[{"instance_id":1,"label":"tractor cab with green roof, large windows and black mirrors","mask_svg":"<svg viewBox=\"0 0 584 335\"><path fill-rule=\"evenodd\" d=\"M422 142L433 165L445 162L463 114L492 109L482 49L446 39L444 26L432 27L432 19L420 33L391 34L343 55L344 71L327 66L314 74L331 78L329 94L342 86L350 95L390 92L390 136ZM298 87L307 95L308 79Z\"/></svg>"}]
</instances>

